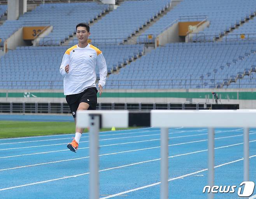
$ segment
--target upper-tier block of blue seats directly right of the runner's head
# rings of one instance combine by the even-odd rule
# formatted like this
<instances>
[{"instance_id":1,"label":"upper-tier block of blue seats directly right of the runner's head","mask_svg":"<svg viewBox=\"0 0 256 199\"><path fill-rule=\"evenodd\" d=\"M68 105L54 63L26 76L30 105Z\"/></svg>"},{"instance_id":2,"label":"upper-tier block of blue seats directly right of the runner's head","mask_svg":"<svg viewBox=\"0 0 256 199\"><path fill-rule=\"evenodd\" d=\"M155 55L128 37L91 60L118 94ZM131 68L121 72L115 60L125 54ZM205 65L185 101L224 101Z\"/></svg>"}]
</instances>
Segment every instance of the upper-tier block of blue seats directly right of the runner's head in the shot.
<instances>
[{"instance_id":1,"label":"upper-tier block of blue seats directly right of the runner's head","mask_svg":"<svg viewBox=\"0 0 256 199\"><path fill-rule=\"evenodd\" d=\"M169 6L170 0L125 1L92 24L90 39L94 43L123 43Z\"/></svg>"}]
</instances>

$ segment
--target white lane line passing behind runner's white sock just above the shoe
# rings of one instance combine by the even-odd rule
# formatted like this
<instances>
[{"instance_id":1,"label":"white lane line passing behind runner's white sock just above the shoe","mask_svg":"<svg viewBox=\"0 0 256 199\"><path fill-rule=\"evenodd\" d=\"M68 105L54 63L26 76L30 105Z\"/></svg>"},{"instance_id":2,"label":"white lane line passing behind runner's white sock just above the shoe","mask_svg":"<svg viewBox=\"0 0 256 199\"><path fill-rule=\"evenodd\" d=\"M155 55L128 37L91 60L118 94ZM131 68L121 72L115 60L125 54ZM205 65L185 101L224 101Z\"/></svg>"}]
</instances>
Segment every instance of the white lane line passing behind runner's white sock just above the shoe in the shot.
<instances>
[{"instance_id":1,"label":"white lane line passing behind runner's white sock just above the shoe","mask_svg":"<svg viewBox=\"0 0 256 199\"><path fill-rule=\"evenodd\" d=\"M176 133L187 133L187 132L201 132L203 130L207 129L202 129L202 130L191 130L191 131L180 131L180 132L174 132L171 134L176 134ZM136 134L136 133L149 133L149 132L159 132L160 130L147 130L147 131L139 131L139 132L132 132L132 133L112 133L112 134L105 134L105 135L99 135L99 136L110 136L110 135L128 135L128 134ZM83 136L82 138L88 138L89 136ZM53 140L67 140L70 139L70 137L67 138L56 138L56 139L49 139L49 140L32 140L32 141L23 141L23 142L8 142L8 143L1 143L0 145L5 145L5 144L21 144L21 143L29 143L29 142L44 142L44 141L53 141Z\"/></svg>"}]
</instances>

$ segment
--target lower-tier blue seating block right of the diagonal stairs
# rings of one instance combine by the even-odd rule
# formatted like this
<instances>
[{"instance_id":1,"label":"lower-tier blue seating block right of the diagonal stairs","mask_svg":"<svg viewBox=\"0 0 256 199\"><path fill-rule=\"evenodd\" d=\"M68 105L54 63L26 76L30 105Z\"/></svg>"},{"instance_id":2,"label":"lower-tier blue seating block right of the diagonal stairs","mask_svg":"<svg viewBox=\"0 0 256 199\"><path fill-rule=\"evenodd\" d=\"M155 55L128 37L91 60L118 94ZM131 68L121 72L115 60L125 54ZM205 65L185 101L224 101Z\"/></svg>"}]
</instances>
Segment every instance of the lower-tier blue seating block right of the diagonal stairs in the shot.
<instances>
[{"instance_id":1,"label":"lower-tier blue seating block right of the diagonal stairs","mask_svg":"<svg viewBox=\"0 0 256 199\"><path fill-rule=\"evenodd\" d=\"M232 78L237 81L239 73L255 64L255 43L170 43L132 62L118 75L111 74L106 88L217 88L224 81L229 86Z\"/></svg>"}]
</instances>

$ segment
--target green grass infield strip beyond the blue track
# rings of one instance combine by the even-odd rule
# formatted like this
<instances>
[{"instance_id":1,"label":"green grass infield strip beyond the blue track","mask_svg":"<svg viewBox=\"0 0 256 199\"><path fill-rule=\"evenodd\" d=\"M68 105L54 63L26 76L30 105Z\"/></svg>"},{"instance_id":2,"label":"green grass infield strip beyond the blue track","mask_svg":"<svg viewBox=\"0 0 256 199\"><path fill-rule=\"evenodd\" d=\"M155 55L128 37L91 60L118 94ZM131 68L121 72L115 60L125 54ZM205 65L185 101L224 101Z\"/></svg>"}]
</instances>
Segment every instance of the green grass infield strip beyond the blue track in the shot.
<instances>
[{"instance_id":1,"label":"green grass infield strip beyond the blue track","mask_svg":"<svg viewBox=\"0 0 256 199\"><path fill-rule=\"evenodd\" d=\"M116 128L116 130L132 128ZM100 131L110 131L102 128ZM85 129L84 132L88 132ZM75 122L0 121L0 138L75 133Z\"/></svg>"}]
</instances>

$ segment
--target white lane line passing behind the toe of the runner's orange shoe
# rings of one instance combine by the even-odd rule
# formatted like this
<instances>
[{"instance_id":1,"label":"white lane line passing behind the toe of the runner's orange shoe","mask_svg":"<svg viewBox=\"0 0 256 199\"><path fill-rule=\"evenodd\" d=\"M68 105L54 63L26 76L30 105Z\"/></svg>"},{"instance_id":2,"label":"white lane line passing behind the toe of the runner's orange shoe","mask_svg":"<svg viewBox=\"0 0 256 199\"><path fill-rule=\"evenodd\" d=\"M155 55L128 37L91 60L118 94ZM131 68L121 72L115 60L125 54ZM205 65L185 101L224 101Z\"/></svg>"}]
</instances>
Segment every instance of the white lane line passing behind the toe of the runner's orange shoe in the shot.
<instances>
[{"instance_id":1,"label":"white lane line passing behind the toe of the runner's orange shoe","mask_svg":"<svg viewBox=\"0 0 256 199\"><path fill-rule=\"evenodd\" d=\"M255 134L255 133L249 133L251 134ZM240 135L232 135L232 136L226 136L226 137L218 137L218 138L214 138L215 140L217 139L222 139L222 138L230 138L230 137L238 137L238 136L242 136L243 134ZM124 143L117 143L117 144L107 144L107 145L100 145L99 147L107 147L107 146L114 146L114 145L124 145L124 144L133 144L133 143L140 143L140 142L151 142L151 141L156 141L156 140L160 140L160 139L152 139L152 140L142 140L142 141L137 141L137 142L124 142ZM206 140L196 140L196 141L192 141L192 142L184 142L184 143L178 143L178 144L171 144L168 146L175 146L175 145L181 145L181 144L191 144L191 143L196 143L196 142L205 142ZM82 147L79 148L79 150L81 149L89 149L89 147ZM69 151L69 149L65 149L65 150L58 150L58 151L46 151L46 152L38 152L38 153L32 153L32 154L21 154L21 155L16 155L16 156L5 156L5 157L0 157L0 159L2 158L9 158L9 157L19 157L19 156L30 156L30 155L37 155L37 154L46 154L46 153L52 153L52 152L61 152L61 151Z\"/></svg>"}]
</instances>

